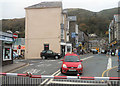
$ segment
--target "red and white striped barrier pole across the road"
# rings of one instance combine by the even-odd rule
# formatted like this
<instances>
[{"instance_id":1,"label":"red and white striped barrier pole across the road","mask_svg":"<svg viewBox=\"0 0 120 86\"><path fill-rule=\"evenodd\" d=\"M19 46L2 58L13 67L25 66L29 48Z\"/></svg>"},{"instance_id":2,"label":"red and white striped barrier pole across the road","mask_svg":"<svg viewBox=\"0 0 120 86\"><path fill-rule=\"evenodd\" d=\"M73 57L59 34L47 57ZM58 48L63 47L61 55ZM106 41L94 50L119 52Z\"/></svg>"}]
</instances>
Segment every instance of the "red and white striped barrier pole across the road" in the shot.
<instances>
[{"instance_id":1,"label":"red and white striped barrier pole across the road","mask_svg":"<svg viewBox=\"0 0 120 86\"><path fill-rule=\"evenodd\" d=\"M18 74L18 73L0 73L4 76L21 76L30 78L49 78L49 79L80 79L80 80L120 80L120 77L80 77L77 76L50 76L50 75L32 75L31 73Z\"/></svg>"}]
</instances>

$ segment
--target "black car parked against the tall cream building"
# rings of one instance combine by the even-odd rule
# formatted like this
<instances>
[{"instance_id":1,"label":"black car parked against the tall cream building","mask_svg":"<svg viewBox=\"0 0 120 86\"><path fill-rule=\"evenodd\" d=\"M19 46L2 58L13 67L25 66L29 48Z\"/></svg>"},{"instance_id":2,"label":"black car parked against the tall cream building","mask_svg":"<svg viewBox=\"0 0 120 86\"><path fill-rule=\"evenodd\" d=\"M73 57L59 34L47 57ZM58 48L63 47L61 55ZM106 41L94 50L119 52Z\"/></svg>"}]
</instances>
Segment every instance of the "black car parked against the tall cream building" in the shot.
<instances>
[{"instance_id":1,"label":"black car parked against the tall cream building","mask_svg":"<svg viewBox=\"0 0 120 86\"><path fill-rule=\"evenodd\" d=\"M61 54L55 53L52 50L43 50L40 53L40 56L42 57L42 59L47 59L47 58L59 59L61 57Z\"/></svg>"}]
</instances>

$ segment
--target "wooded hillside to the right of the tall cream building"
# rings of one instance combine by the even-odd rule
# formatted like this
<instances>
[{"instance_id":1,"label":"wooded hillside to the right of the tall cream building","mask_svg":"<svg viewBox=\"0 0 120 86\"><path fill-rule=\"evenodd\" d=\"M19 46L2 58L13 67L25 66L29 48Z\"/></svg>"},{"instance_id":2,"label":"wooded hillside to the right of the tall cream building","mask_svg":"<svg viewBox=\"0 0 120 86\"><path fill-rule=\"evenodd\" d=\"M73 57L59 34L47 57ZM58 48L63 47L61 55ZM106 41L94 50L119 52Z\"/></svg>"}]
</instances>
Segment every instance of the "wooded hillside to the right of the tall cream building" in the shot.
<instances>
[{"instance_id":1,"label":"wooded hillside to the right of the tall cream building","mask_svg":"<svg viewBox=\"0 0 120 86\"><path fill-rule=\"evenodd\" d=\"M118 9L107 9L100 12L92 12L84 9L65 9L69 16L77 16L79 30L86 33L96 33L100 37L106 37L105 32L108 30L113 15L117 14Z\"/></svg>"}]
</instances>

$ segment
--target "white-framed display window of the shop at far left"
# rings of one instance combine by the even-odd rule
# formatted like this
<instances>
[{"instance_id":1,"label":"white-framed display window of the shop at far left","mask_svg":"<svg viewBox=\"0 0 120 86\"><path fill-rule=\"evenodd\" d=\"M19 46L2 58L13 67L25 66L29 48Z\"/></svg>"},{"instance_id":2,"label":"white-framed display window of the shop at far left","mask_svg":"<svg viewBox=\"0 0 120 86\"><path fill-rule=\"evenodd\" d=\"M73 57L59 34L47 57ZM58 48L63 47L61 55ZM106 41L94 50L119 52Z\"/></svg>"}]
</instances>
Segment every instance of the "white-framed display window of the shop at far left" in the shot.
<instances>
[{"instance_id":1,"label":"white-framed display window of the shop at far left","mask_svg":"<svg viewBox=\"0 0 120 86\"><path fill-rule=\"evenodd\" d=\"M12 60L11 53L12 53L12 49L10 47L5 47L3 49L3 61Z\"/></svg>"}]
</instances>

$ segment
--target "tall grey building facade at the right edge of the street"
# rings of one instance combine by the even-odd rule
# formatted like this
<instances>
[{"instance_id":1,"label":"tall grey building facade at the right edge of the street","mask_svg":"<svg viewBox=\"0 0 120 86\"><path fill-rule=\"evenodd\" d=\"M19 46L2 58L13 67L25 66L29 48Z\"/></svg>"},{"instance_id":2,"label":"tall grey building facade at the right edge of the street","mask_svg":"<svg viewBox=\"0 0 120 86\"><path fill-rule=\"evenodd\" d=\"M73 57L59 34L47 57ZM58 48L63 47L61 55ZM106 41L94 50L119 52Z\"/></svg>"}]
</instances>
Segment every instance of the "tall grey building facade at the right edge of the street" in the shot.
<instances>
[{"instance_id":1,"label":"tall grey building facade at the right edge of the street","mask_svg":"<svg viewBox=\"0 0 120 86\"><path fill-rule=\"evenodd\" d=\"M115 14L109 25L109 48L117 49L120 46L120 15Z\"/></svg>"}]
</instances>

